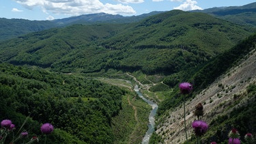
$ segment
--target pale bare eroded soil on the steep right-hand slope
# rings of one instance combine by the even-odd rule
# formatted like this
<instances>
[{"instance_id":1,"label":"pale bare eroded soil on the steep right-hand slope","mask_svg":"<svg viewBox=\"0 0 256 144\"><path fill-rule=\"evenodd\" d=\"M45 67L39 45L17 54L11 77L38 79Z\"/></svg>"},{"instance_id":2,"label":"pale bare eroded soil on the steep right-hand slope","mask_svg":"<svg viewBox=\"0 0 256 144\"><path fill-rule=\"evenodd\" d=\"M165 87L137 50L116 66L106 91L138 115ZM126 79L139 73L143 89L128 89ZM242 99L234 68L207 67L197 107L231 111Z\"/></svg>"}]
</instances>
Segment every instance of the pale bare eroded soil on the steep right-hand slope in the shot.
<instances>
[{"instance_id":1,"label":"pale bare eroded soil on the steep right-hand slope","mask_svg":"<svg viewBox=\"0 0 256 144\"><path fill-rule=\"evenodd\" d=\"M239 66L231 68L227 74L224 74L216 80L210 87L204 89L193 100L186 102L186 125L188 136L193 132L192 122L196 119L193 115L195 106L198 103L203 104L204 115L202 120L208 124L218 115L225 115L231 111L225 111L227 106L236 101L236 96L240 96L242 100L240 104L246 100L243 93L246 93L246 87L256 83L256 51L252 51L248 58ZM184 109L183 106L177 107L174 111L169 111L163 119L162 123L157 126L156 133L162 136L164 143L184 143L186 136L184 132Z\"/></svg>"}]
</instances>

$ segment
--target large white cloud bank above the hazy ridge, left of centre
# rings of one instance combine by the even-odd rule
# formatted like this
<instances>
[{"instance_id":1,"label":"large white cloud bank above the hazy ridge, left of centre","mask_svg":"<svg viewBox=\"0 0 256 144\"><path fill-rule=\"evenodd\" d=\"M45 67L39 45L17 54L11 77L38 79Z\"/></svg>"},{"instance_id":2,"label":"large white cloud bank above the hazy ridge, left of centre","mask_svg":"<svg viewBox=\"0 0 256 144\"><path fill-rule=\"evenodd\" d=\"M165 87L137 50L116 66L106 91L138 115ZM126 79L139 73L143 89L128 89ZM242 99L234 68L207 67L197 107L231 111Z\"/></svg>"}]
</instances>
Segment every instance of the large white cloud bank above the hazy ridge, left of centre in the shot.
<instances>
[{"instance_id":1,"label":"large white cloud bank above the hazy ridge, left of centre","mask_svg":"<svg viewBox=\"0 0 256 144\"><path fill-rule=\"evenodd\" d=\"M104 12L107 14L135 14L132 7L122 4L103 4L100 0L15 0L25 8L33 9L34 7L42 8L46 14L67 14L71 16L81 14L93 14ZM143 0L118 0L128 3L139 3Z\"/></svg>"}]
</instances>

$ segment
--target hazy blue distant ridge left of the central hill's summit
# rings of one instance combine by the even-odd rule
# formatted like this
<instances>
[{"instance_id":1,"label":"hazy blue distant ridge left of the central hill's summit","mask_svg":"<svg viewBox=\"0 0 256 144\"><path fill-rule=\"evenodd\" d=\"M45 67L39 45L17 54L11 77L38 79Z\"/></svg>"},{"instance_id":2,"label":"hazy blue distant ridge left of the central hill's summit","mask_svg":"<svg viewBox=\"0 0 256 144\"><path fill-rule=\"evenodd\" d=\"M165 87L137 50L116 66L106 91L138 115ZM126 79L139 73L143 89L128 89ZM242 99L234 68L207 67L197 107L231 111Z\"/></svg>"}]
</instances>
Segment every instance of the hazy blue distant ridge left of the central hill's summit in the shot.
<instances>
[{"instance_id":1,"label":"hazy blue distant ridge left of the central hill's summit","mask_svg":"<svg viewBox=\"0 0 256 144\"><path fill-rule=\"evenodd\" d=\"M150 12L139 16L121 16L113 14L85 14L56 20L25 20L18 18L0 18L0 41L16 38L19 35L43 31L53 27L66 27L67 25L84 24L96 25L97 23L134 23L161 12Z\"/></svg>"}]
</instances>

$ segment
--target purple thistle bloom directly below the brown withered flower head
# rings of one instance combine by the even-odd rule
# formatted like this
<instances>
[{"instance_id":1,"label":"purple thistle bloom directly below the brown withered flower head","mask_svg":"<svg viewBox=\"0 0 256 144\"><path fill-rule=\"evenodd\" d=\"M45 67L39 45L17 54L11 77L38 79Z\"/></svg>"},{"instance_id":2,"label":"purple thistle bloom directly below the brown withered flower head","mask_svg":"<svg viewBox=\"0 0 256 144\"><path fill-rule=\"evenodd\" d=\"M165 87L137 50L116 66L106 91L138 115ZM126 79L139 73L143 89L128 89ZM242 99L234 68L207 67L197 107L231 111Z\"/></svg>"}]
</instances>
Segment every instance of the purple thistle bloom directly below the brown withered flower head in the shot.
<instances>
[{"instance_id":1,"label":"purple thistle bloom directly below the brown withered flower head","mask_svg":"<svg viewBox=\"0 0 256 144\"><path fill-rule=\"evenodd\" d=\"M194 129L195 135L202 136L208 130L208 124L205 121L193 121L192 128Z\"/></svg>"}]
</instances>

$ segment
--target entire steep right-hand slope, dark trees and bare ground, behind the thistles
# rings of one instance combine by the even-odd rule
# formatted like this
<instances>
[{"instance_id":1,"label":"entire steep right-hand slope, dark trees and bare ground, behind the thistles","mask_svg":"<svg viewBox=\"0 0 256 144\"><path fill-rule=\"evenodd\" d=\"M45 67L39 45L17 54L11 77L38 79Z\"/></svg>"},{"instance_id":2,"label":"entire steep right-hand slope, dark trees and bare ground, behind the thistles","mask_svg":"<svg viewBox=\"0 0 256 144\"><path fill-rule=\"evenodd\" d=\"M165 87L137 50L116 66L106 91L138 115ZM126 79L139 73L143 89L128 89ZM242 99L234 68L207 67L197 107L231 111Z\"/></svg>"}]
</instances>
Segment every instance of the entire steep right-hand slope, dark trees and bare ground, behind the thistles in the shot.
<instances>
[{"instance_id":1,"label":"entire steep right-hand slope, dark trees and bare ground, behind the thistles","mask_svg":"<svg viewBox=\"0 0 256 144\"><path fill-rule=\"evenodd\" d=\"M186 96L190 143L197 141L189 124L197 119L193 113L199 102L203 104L201 119L209 124L201 143L228 143L232 128L238 129L242 143L246 143L246 133L255 134L255 44L256 33L189 72L186 81L193 83L193 93ZM181 111L178 111L182 109L182 100L179 88L175 85L166 99L160 102L157 134L153 135L150 143L185 143L184 130L180 130L183 117ZM255 139L251 143L255 143Z\"/></svg>"}]
</instances>

